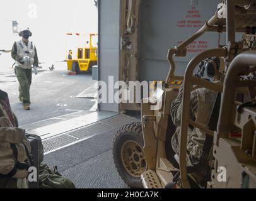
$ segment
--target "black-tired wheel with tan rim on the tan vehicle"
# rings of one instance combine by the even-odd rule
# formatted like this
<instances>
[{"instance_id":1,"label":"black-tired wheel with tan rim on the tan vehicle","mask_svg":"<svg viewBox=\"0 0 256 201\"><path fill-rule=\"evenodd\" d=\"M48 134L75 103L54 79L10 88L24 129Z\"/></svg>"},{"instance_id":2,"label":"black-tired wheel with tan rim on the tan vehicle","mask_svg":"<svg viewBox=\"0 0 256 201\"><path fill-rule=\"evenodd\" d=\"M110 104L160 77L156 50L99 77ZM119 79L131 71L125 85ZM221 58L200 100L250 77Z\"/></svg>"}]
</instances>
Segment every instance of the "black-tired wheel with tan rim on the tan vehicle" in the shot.
<instances>
[{"instance_id":1,"label":"black-tired wheel with tan rim on the tan vehicle","mask_svg":"<svg viewBox=\"0 0 256 201\"><path fill-rule=\"evenodd\" d=\"M141 174L147 170L141 122L123 126L113 140L113 160L120 177L131 188L143 188Z\"/></svg>"}]
</instances>

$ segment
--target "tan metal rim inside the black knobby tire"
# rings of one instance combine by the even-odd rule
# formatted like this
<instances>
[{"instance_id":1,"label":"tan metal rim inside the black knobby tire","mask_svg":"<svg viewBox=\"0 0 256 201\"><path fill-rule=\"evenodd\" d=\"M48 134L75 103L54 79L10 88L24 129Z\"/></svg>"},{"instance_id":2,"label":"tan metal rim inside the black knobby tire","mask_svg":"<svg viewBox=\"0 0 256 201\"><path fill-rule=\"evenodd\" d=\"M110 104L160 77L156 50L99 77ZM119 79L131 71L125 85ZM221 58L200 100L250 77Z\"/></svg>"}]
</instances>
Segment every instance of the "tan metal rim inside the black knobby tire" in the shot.
<instances>
[{"instance_id":1,"label":"tan metal rim inside the black knobby tire","mask_svg":"<svg viewBox=\"0 0 256 201\"><path fill-rule=\"evenodd\" d=\"M136 141L126 141L121 149L122 164L129 175L141 178L147 170L143 148Z\"/></svg>"}]
</instances>

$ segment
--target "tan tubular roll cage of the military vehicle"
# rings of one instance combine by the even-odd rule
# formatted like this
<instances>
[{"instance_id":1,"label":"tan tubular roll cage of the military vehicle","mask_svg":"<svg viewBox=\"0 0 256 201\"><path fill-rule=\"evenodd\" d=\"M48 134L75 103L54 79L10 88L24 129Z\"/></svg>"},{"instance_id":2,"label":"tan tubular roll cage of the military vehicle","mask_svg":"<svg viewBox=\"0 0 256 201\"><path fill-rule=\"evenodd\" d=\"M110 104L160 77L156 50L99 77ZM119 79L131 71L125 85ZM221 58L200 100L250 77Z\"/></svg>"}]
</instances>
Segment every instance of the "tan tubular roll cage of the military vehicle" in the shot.
<instances>
[{"instance_id":1,"label":"tan tubular roll cage of the military vehicle","mask_svg":"<svg viewBox=\"0 0 256 201\"><path fill-rule=\"evenodd\" d=\"M228 128L229 125L229 114L231 114L232 102L235 100L236 88L238 86L247 86L250 84L256 86L255 81L240 81L239 73L248 72L250 65L256 65L256 51L250 51L241 53L236 57L235 53L235 36L236 32L247 33L248 28L256 26L256 20L248 20L251 18L256 19L255 11L255 0L226 0L223 1L223 6L218 8L218 11L212 16L209 21L207 21L202 28L192 35L187 40L183 41L179 46L175 46L168 50L168 62L170 63L170 71L166 78L165 87L171 84L173 81L183 80L183 101L182 101L182 124L181 124L181 137L180 137L180 179L183 188L190 188L190 184L187 178L187 132L189 125L194 126L194 128L199 128L206 134L213 136L214 131L204 128L197 122L189 119L189 107L190 107L190 94L192 91L192 86L197 85L200 87L205 87L207 89L223 93L222 103L221 103L221 113L219 115L218 122L218 137L228 138L227 131L224 128ZM219 16L226 13L226 18L219 18ZM187 55L187 46L202 36L207 31L214 32L224 32L226 31L226 46L223 48L214 48L207 50L206 52L199 53L190 60L189 65L187 65L185 76L175 75L175 61L173 57L185 57ZM227 59L230 67L226 73L226 78L223 84L216 84L209 82L204 79L200 79L194 76L194 70L197 65L209 57L224 57ZM236 57L236 58L235 58ZM235 59L234 59L235 58ZM233 62L232 62L233 61ZM234 82L236 85L234 85ZM228 101L226 101L228 100Z\"/></svg>"}]
</instances>

